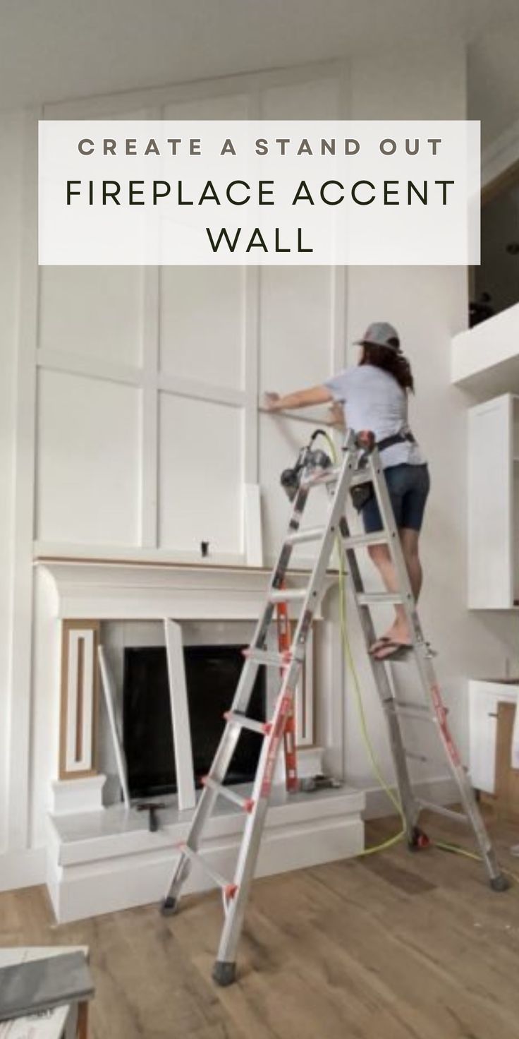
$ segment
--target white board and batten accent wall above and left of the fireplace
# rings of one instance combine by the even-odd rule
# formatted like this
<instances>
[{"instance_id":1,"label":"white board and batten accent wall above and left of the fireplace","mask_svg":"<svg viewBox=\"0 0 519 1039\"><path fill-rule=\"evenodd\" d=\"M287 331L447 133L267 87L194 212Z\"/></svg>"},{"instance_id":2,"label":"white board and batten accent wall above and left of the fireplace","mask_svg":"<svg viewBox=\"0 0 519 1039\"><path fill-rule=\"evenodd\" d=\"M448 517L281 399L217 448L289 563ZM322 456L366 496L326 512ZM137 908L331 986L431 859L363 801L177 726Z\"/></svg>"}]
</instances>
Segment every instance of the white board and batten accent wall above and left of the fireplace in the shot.
<instances>
[{"instance_id":1,"label":"white board and batten accent wall above and left of the fireplace","mask_svg":"<svg viewBox=\"0 0 519 1039\"><path fill-rule=\"evenodd\" d=\"M261 488L269 563L289 514L280 471L325 412L279 420L262 412L262 394L320 382L345 357L344 268L38 268L37 119L335 118L348 114L347 99L344 63L328 62L48 105L9 127L2 119L12 145L6 183L20 190L0 201L9 248L2 356L13 401L2 414L12 472L0 512L12 523L1 886L45 877L59 770L59 625L34 557L191 562L207 540L210 562L257 563L244 502Z\"/></svg>"}]
</instances>

